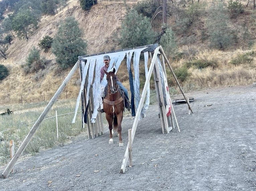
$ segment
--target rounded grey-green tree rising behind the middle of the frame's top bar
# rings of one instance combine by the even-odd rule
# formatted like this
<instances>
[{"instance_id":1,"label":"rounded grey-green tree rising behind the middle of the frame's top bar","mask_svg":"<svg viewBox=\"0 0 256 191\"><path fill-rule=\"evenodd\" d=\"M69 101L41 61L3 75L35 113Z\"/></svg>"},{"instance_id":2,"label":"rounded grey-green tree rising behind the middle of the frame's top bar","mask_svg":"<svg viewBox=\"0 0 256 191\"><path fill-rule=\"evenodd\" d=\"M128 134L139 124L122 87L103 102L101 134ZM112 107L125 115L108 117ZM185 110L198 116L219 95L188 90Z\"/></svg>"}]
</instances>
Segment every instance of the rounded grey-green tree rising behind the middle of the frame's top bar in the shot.
<instances>
[{"instance_id":1,"label":"rounded grey-green tree rising behind the middle of the frame's top bar","mask_svg":"<svg viewBox=\"0 0 256 191\"><path fill-rule=\"evenodd\" d=\"M153 31L150 20L139 15L132 9L124 18L121 26L120 38L122 48L131 48L153 44L156 33Z\"/></svg>"}]
</instances>

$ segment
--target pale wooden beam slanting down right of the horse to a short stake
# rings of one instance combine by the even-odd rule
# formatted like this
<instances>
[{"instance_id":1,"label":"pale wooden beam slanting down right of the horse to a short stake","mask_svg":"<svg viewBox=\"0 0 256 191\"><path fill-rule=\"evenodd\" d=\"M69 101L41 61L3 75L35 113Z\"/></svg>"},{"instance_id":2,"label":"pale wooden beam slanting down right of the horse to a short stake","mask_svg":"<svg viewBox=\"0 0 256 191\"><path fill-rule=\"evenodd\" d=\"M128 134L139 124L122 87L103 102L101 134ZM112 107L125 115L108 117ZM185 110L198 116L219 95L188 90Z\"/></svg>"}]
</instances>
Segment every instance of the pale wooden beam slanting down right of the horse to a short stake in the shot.
<instances>
[{"instance_id":1,"label":"pale wooden beam slanting down right of the horse to a short stake","mask_svg":"<svg viewBox=\"0 0 256 191\"><path fill-rule=\"evenodd\" d=\"M131 143L133 142L133 138L134 138L134 135L135 135L135 132L136 132L136 128L137 128L138 122L139 122L140 112L141 112L141 109L142 109L142 106L143 106L143 103L144 103L144 100L145 100L145 95L147 93L147 85L149 84L150 77L151 77L151 74L153 72L153 68L154 68L155 63L156 63L158 50L159 50L159 47L157 47L155 49L155 51L154 51L155 54L153 55L153 58L152 58L152 61L151 61L151 64L150 64L150 67L149 67L149 70L148 70L148 74L146 76L146 82L145 82L145 85L144 85L144 88L143 88L143 91L142 91L142 94L141 94L139 106L137 108L135 119L134 119L134 122L133 122L133 125L132 125L132 139L131 139ZM121 170L120 170L121 173L123 173L123 174L125 173L125 168L126 168L126 164L127 164L127 161L128 161L128 157L129 157L129 144L127 144L127 147L126 147L126 150L125 150L125 154L124 154L123 163L122 163Z\"/></svg>"}]
</instances>

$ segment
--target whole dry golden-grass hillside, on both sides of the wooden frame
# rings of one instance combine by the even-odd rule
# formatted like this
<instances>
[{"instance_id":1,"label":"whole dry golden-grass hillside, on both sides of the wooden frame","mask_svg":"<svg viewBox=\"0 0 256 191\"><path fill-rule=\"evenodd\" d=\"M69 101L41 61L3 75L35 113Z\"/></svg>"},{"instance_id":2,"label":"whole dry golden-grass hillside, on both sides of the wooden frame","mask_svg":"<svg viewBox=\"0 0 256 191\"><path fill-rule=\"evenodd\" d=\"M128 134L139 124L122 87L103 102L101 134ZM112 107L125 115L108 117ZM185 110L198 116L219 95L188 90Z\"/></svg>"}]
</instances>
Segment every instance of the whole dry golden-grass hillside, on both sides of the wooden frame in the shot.
<instances>
[{"instance_id":1,"label":"whole dry golden-grass hillside, on both sides of the wooden frame","mask_svg":"<svg viewBox=\"0 0 256 191\"><path fill-rule=\"evenodd\" d=\"M8 59L1 59L0 63L4 64L10 75L0 81L0 104L14 104L24 102L34 102L42 100L50 100L52 95L56 92L65 77L68 75L70 69L63 71L58 68L55 63L54 55L50 53L40 52L41 57L45 57L52 62L43 71L36 74L25 75L22 71L21 65L24 64L27 55L32 46L37 47L39 40L45 35L54 37L58 25L67 16L75 16L79 22L80 28L84 31L84 39L86 40L87 53L94 54L112 50L121 49L118 45L116 38L119 35L121 22L124 18L127 8L133 6L138 1L111 1L101 0L98 4L94 5L90 11L82 11L79 1L70 0L69 6L63 8L54 16L44 16L41 18L39 28L34 32L28 40L20 40L15 38L6 52ZM202 0L200 2L207 2ZM247 1L242 1L245 6ZM251 6L251 5L250 5ZM238 37L241 38L243 33L243 26L249 28L251 33L255 33L256 27L250 23L252 8L246 9L236 20L232 20L232 27L240 31ZM207 16L207 11L203 16ZM232 50L219 51L215 49L208 49L207 43L200 40L200 33L205 27L205 19L202 17L194 24L191 33L187 31L186 35L177 35L178 50L186 55L179 61L172 61L173 68L179 68L185 62L192 59L214 61L217 63L217 69L207 68L205 71L197 69L189 69L191 73L190 78L182 84L184 90L199 89L203 87L218 87L218 86L236 86L248 85L255 82L255 68L256 62L253 58L250 65L233 66L230 61L237 55L248 52L245 44L237 44ZM158 18L159 19L159 18ZM153 22L155 31L159 30L159 23L156 20ZM168 24L173 25L175 20L173 18L168 20ZM37 47L38 48L38 47ZM254 46L256 51L256 46ZM253 50L254 50L253 49ZM232 79L232 78L235 79ZM171 79L168 76L168 80ZM125 82L124 82L125 83ZM128 83L127 83L128 84ZM173 85L173 84L171 84ZM174 85L173 85L174 86ZM76 98L80 89L80 75L79 72L74 75L72 80L68 83L67 87L60 95L60 98Z\"/></svg>"}]
</instances>

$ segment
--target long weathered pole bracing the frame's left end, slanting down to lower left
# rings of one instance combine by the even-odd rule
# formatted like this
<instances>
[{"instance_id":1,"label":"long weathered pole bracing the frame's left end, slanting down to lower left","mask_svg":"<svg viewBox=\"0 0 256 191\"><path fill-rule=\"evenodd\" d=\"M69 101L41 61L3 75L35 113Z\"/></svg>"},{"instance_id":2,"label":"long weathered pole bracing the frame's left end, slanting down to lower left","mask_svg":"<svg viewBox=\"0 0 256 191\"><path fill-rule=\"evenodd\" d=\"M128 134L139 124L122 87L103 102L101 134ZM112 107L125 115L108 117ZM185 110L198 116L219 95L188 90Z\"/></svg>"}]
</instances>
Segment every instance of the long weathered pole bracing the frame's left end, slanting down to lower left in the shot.
<instances>
[{"instance_id":1,"label":"long weathered pole bracing the frame's left end, slanting down to lower left","mask_svg":"<svg viewBox=\"0 0 256 191\"><path fill-rule=\"evenodd\" d=\"M38 129L38 127L41 124L42 120L44 119L45 115L49 112L49 110L51 109L53 103L55 103L55 101L57 100L57 98L59 97L59 95L61 94L63 89L66 87L67 83L70 81L71 77L73 76L73 74L75 73L75 71L77 69L78 69L78 61L75 64L75 66L72 68L72 70L70 71L68 76L65 78L65 80L62 82L62 84L60 85L60 87L57 90L57 92L53 95L53 97L51 98L50 102L45 107L45 109L43 110L42 114L39 116L39 118L37 119L37 121L35 122L33 127L31 128L29 133L27 134L27 136L24 139L24 141L21 143L21 145L18 148L17 152L15 153L15 155L13 156L11 161L9 162L8 166L5 168L4 172L2 173L2 177L3 178L7 178L9 176L12 168L14 167L15 163L17 162L17 160L19 159L19 157L21 156L21 154L23 153L23 151L27 147L29 141L31 140L31 138L35 134L36 130Z\"/></svg>"}]
</instances>

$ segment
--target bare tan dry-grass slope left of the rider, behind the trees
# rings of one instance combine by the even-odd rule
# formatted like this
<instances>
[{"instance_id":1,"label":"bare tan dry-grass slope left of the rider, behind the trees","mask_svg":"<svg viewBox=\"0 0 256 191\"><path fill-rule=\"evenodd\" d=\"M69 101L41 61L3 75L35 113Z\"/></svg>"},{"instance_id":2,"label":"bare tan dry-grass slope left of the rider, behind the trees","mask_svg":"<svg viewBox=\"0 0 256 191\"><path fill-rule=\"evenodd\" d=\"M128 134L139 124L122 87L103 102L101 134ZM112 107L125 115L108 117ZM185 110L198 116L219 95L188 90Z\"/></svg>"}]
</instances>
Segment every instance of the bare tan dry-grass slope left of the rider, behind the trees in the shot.
<instances>
[{"instance_id":1,"label":"bare tan dry-grass slope left of the rider, behind the trees","mask_svg":"<svg viewBox=\"0 0 256 191\"><path fill-rule=\"evenodd\" d=\"M128 5L130 3L132 2L128 2ZM41 74L25 75L21 69L21 64L25 62L30 48L32 46L37 47L40 39L45 35L54 36L58 24L65 17L75 16L80 28L84 31L84 39L88 43L87 53L93 54L118 48L115 39L110 37L118 34L125 10L126 8L123 6L122 1L99 1L89 12L84 12L81 10L77 0L70 0L69 9L65 7L54 16L44 16L39 23L38 30L28 40L15 38L6 52L8 59L1 59L1 64L8 68L10 75L0 82L0 99L13 100L16 103L17 101L15 100L21 99L21 95L24 100L31 101L38 99L35 98L37 96L43 98L43 94L47 95L48 99L54 95L70 69L66 71L60 70L55 63L54 55L50 51L49 53L44 53L43 51L40 53L47 60L52 60L51 65L47 66L47 69L42 71ZM113 11L115 11L114 17ZM38 75L40 75L39 80L37 80ZM69 98L77 97L80 89L79 80L80 76L77 72L65 89Z\"/></svg>"}]
</instances>

